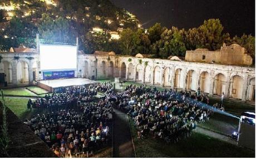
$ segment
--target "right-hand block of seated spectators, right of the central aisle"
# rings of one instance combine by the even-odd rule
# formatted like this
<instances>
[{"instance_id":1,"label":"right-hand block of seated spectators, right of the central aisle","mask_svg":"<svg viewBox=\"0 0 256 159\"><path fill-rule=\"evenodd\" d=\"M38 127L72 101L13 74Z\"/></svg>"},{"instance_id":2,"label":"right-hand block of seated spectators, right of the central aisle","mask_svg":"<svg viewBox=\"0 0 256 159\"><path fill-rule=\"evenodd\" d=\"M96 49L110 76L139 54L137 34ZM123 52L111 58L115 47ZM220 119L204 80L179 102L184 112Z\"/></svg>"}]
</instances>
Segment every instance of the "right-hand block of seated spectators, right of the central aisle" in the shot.
<instances>
[{"instance_id":1,"label":"right-hand block of seated spectators, right of the central aisle","mask_svg":"<svg viewBox=\"0 0 256 159\"><path fill-rule=\"evenodd\" d=\"M145 85L127 86L112 99L116 99L118 109L134 120L138 138L157 137L167 143L190 136L196 124L208 120L213 112L203 106L209 103L207 95L159 91Z\"/></svg>"}]
</instances>

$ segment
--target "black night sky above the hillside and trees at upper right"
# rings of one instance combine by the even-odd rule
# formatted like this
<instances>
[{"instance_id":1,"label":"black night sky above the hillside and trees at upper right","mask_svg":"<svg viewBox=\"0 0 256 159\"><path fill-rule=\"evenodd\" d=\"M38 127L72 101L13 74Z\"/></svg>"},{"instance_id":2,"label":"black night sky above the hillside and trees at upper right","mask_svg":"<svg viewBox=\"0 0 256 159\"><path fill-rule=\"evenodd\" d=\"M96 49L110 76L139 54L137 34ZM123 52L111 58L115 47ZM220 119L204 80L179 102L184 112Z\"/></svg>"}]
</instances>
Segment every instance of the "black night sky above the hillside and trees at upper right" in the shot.
<instances>
[{"instance_id":1,"label":"black night sky above the hillside and trees at upper right","mask_svg":"<svg viewBox=\"0 0 256 159\"><path fill-rule=\"evenodd\" d=\"M110 0L135 14L144 28L156 22L170 28L193 28L219 18L224 32L255 35L255 0Z\"/></svg>"}]
</instances>

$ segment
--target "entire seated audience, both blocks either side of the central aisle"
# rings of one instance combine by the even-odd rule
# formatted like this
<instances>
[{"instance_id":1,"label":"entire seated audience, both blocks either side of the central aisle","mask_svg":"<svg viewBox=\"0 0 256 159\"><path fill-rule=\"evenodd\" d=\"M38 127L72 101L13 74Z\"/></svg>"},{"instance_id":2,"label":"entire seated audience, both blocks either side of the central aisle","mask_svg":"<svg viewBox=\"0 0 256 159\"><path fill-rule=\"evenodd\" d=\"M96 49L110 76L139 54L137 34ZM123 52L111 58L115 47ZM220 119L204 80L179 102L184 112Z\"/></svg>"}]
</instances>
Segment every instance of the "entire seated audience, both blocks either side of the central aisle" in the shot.
<instances>
[{"instance_id":1,"label":"entire seated audience, both blocks either side of the central aisle","mask_svg":"<svg viewBox=\"0 0 256 159\"><path fill-rule=\"evenodd\" d=\"M96 101L93 95L105 93ZM200 101L200 102L199 102ZM63 88L35 101L28 108L43 107L50 113L33 116L27 124L59 157L72 157L99 150L110 139L112 107L125 111L134 121L137 137L178 142L191 135L198 123L209 120L213 109L208 95L176 89L129 85L115 92L111 83Z\"/></svg>"}]
</instances>

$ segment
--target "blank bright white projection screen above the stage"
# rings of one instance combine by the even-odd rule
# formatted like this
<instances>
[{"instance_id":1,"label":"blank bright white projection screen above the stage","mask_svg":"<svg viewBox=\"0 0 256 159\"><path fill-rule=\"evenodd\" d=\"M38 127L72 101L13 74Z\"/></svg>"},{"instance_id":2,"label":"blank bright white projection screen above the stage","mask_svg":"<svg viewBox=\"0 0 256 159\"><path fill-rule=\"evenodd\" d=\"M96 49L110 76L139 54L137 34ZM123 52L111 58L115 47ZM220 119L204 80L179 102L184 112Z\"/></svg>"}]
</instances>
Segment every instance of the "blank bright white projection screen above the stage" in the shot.
<instances>
[{"instance_id":1,"label":"blank bright white projection screen above the stage","mask_svg":"<svg viewBox=\"0 0 256 159\"><path fill-rule=\"evenodd\" d=\"M76 70L76 46L40 44L40 69L42 71Z\"/></svg>"}]
</instances>

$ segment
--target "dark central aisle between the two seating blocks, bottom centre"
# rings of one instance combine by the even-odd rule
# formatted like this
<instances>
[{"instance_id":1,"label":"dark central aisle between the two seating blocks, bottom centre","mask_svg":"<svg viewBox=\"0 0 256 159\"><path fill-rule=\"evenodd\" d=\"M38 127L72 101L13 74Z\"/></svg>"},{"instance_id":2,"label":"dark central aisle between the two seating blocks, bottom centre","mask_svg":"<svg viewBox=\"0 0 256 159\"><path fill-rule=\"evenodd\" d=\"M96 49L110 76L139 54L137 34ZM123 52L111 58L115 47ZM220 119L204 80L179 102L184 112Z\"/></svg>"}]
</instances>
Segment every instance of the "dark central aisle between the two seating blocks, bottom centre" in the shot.
<instances>
[{"instance_id":1,"label":"dark central aisle between the two seating blocks, bottom centre","mask_svg":"<svg viewBox=\"0 0 256 159\"><path fill-rule=\"evenodd\" d=\"M113 157L135 157L126 114L115 110Z\"/></svg>"}]
</instances>

